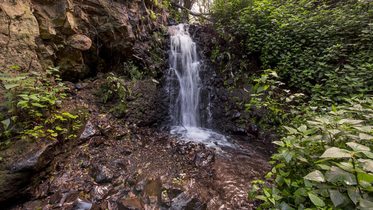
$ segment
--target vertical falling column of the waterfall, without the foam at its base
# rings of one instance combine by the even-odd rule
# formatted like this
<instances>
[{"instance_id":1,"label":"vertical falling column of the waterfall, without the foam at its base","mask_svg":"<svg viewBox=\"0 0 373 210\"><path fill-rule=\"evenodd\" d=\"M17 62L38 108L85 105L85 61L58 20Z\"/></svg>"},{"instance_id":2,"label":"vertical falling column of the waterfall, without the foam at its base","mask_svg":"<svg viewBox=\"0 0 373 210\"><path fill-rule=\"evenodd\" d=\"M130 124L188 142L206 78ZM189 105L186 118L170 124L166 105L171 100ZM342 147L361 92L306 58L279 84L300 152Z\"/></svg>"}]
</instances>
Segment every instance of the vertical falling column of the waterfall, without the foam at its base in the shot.
<instances>
[{"instance_id":1,"label":"vertical falling column of the waterfall, without the foam at its base","mask_svg":"<svg viewBox=\"0 0 373 210\"><path fill-rule=\"evenodd\" d=\"M198 59L196 44L189 36L184 24L170 27L170 32L169 81L170 78L176 76L178 84L173 83L172 85L173 88L179 89L175 106L170 106L173 124L178 125L181 122L184 126L197 127L201 124L198 106L201 64Z\"/></svg>"}]
</instances>

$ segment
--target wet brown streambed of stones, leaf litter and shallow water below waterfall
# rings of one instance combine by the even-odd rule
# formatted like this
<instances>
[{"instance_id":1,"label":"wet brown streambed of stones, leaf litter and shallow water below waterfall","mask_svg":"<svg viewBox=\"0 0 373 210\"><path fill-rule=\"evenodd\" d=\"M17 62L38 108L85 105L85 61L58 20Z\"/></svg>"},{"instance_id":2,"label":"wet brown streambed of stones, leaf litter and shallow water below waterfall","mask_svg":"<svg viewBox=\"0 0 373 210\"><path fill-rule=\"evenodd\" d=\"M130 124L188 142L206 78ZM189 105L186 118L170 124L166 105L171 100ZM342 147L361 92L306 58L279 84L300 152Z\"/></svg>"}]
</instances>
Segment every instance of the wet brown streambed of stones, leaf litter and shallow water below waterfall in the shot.
<instances>
[{"instance_id":1,"label":"wet brown streambed of stones, leaf litter and shallow water below waterfall","mask_svg":"<svg viewBox=\"0 0 373 210\"><path fill-rule=\"evenodd\" d=\"M270 150L242 136L213 150L164 129L117 120L98 103L102 82L88 81L64 105L81 104L90 112L76 140L24 143L28 148L18 158L3 155L2 172L23 175L21 183L9 176L1 183L2 199L4 189L18 192L2 201L6 209L255 208L247 191L251 180L270 170Z\"/></svg>"}]
</instances>

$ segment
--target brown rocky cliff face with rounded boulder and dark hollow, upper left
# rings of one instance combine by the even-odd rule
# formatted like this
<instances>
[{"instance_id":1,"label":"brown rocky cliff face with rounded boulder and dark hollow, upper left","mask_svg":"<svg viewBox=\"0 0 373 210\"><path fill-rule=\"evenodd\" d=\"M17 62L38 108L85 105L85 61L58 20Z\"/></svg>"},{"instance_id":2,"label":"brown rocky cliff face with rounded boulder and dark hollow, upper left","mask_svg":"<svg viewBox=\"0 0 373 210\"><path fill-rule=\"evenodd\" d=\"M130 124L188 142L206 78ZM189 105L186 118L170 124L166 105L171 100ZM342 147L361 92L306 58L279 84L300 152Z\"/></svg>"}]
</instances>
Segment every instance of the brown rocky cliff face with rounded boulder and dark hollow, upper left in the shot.
<instances>
[{"instance_id":1,"label":"brown rocky cliff face with rounded boulder and dark hollow, upper left","mask_svg":"<svg viewBox=\"0 0 373 210\"><path fill-rule=\"evenodd\" d=\"M167 16L153 0L0 1L0 71L60 66L78 80L127 59L147 65L147 40Z\"/></svg>"}]
</instances>

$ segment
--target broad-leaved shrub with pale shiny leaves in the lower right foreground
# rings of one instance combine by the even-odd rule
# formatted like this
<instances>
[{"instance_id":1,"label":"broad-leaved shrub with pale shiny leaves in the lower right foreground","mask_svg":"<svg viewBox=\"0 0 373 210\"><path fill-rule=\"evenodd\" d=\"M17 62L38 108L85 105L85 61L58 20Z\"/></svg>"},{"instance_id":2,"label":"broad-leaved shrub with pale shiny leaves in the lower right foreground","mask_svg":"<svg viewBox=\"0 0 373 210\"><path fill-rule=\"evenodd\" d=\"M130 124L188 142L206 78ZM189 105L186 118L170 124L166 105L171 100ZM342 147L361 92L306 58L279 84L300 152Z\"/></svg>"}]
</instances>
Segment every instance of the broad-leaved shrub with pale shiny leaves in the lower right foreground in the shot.
<instances>
[{"instance_id":1,"label":"broad-leaved shrub with pale shiny leaves in the lower right foreground","mask_svg":"<svg viewBox=\"0 0 373 210\"><path fill-rule=\"evenodd\" d=\"M283 138L266 178L255 180L248 198L258 209L369 209L373 183L373 98L343 98L338 106L310 106L302 94L280 89L275 71L256 79L250 106L283 118ZM297 117L294 117L294 116Z\"/></svg>"}]
</instances>

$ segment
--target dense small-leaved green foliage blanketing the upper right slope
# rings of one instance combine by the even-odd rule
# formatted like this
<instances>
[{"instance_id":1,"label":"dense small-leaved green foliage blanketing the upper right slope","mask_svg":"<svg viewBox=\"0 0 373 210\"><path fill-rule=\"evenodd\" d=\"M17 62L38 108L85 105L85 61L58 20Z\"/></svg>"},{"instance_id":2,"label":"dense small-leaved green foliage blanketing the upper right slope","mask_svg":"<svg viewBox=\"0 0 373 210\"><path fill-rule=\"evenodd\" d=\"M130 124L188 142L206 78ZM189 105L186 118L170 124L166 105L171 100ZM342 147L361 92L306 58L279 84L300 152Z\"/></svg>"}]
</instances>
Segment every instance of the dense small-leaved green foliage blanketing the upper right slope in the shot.
<instances>
[{"instance_id":1,"label":"dense small-leaved green foliage blanketing the upper right slope","mask_svg":"<svg viewBox=\"0 0 373 210\"><path fill-rule=\"evenodd\" d=\"M214 12L240 59L258 56L312 98L373 89L372 1L216 0Z\"/></svg>"}]
</instances>

